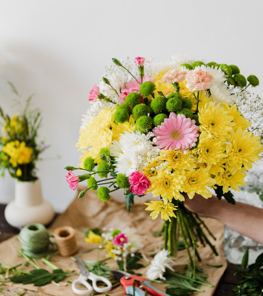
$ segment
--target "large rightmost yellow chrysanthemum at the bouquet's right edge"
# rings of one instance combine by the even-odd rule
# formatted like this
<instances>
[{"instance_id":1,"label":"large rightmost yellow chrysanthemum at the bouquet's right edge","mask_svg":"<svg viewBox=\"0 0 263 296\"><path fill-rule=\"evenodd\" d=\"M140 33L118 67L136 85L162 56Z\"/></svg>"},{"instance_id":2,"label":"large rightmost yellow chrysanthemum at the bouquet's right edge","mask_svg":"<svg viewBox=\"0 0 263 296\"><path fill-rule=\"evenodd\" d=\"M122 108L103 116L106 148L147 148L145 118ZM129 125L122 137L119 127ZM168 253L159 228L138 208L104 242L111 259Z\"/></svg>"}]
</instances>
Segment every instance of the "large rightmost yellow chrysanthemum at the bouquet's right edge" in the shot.
<instances>
[{"instance_id":1,"label":"large rightmost yellow chrysanthemum at the bouquet's right edge","mask_svg":"<svg viewBox=\"0 0 263 296\"><path fill-rule=\"evenodd\" d=\"M231 142L227 144L226 154L231 166L241 169L242 165L249 170L262 152L260 136L254 136L252 132L243 131L242 128L231 133Z\"/></svg>"}]
</instances>

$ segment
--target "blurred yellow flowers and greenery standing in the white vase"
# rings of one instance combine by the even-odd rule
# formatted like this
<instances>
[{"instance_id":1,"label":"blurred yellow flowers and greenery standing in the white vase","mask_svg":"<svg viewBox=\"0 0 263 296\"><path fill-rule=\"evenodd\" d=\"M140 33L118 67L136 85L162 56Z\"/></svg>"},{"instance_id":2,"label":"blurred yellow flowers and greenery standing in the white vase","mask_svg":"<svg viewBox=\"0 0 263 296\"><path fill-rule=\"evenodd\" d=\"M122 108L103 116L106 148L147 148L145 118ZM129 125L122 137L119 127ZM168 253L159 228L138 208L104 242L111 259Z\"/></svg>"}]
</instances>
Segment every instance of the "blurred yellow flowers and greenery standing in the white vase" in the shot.
<instances>
[{"instance_id":1,"label":"blurred yellow flowers and greenery standing in the white vase","mask_svg":"<svg viewBox=\"0 0 263 296\"><path fill-rule=\"evenodd\" d=\"M19 94L12 83L13 92ZM12 118L4 114L0 107L0 169L2 176L8 170L13 178L19 181L34 181L36 177L36 161L46 146L43 142L38 145L36 137L41 125L41 113L38 109L29 110L30 96L20 114ZM17 105L21 107L20 100Z\"/></svg>"}]
</instances>

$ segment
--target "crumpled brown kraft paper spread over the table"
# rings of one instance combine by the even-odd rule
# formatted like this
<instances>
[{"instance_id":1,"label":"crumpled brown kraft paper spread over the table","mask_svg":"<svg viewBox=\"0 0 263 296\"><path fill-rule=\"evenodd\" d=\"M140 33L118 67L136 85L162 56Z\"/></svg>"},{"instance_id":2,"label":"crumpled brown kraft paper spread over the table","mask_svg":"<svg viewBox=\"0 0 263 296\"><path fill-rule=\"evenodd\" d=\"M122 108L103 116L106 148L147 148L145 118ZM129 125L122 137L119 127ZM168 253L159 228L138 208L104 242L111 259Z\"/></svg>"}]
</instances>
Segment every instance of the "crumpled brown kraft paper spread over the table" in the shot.
<instances>
[{"instance_id":1,"label":"crumpled brown kraft paper spread over the table","mask_svg":"<svg viewBox=\"0 0 263 296\"><path fill-rule=\"evenodd\" d=\"M83 188L79 188L79 190L83 190ZM205 200L204 200L205 202ZM103 228L103 227L113 227L122 229L126 226L135 227L143 238L144 249L143 252L145 254L152 253L152 250L156 248L162 247L162 237L153 237L152 233L154 231L158 231L162 228L163 221L161 218L157 218L152 220L149 216L149 212L145 211L145 205L142 200L135 201L135 205L132 205L130 213L126 210L125 202L117 202L115 200L110 200L109 202L101 202L96 192L89 191L85 197L81 199L75 199L71 205L67 208L67 210L60 215L56 221L52 224L52 226L48 229L48 231L53 231L59 226L72 226L77 230L77 241L78 241L78 253L75 256L80 256L83 260L99 260L105 258L105 252L93 250L88 253L82 253L83 250L94 247L94 244L88 244L83 242L83 238L85 234L80 231L83 228ZM211 229L212 233L215 235L217 240L214 242L217 251L219 252L219 256L215 256L211 249L207 246L205 248L200 247L199 253L202 258L202 262L198 263L203 267L205 273L209 275L208 282L214 285L214 288L202 286L201 289L205 292L199 293L194 292L194 296L211 296L213 295L220 278L225 271L227 266L224 251L223 251L223 225L216 220L213 219L205 219L205 222ZM4 264L9 264L10 266L15 266L19 263L24 262L23 258L18 257L18 253L15 251L15 248L20 249L20 242L17 239L17 236L8 239L0 244L0 262ZM185 250L180 251L178 254L178 259L176 261L176 271L183 271L184 268L184 260L187 260L188 256ZM46 266L42 263L41 260L38 260L40 265L50 270L49 266ZM71 260L69 257L61 257L60 255L54 255L51 257L51 262L57 265L62 270L77 270L78 266L76 263ZM114 260L108 260L107 265L112 266L113 268L117 268L117 264ZM209 265L222 265L220 268L211 267ZM25 270L32 270L32 266L28 266ZM141 268L138 272L145 275L147 270L146 268ZM72 276L70 278L76 279L78 276ZM67 278L69 279L69 278ZM27 289L26 295L53 295L53 296L73 296L76 295L73 293L71 289L71 284L68 283L66 286L64 283L67 283L67 279L64 279L59 283L59 286L54 284L48 284L46 286L42 286L38 289L38 287L34 287L33 284L22 285L22 284L13 284L12 287L5 287L3 291L17 291L19 288ZM152 283L153 286L165 292L164 284L156 284ZM10 285L10 283L7 283ZM20 290L21 291L21 290ZM33 292L33 291L38 291ZM8 293L8 292L6 292ZM107 292L107 294L111 296L120 296L126 295L121 287L116 287L112 289L112 291ZM11 294L5 294L11 295Z\"/></svg>"}]
</instances>

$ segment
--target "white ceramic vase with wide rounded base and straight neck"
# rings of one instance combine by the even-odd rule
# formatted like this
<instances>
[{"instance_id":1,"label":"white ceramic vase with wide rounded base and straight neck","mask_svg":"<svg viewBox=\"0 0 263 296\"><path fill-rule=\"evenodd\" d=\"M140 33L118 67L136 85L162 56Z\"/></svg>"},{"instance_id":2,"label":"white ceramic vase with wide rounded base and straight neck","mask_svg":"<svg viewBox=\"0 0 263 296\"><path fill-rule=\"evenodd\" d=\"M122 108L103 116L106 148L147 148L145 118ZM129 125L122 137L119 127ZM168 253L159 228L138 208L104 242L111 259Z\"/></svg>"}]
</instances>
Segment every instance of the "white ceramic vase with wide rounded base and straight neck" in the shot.
<instances>
[{"instance_id":1,"label":"white ceramic vase with wide rounded base and straight neck","mask_svg":"<svg viewBox=\"0 0 263 296\"><path fill-rule=\"evenodd\" d=\"M43 200L41 182L15 181L15 199L9 202L4 212L7 222L17 228L29 223L51 222L54 209L50 202Z\"/></svg>"}]
</instances>

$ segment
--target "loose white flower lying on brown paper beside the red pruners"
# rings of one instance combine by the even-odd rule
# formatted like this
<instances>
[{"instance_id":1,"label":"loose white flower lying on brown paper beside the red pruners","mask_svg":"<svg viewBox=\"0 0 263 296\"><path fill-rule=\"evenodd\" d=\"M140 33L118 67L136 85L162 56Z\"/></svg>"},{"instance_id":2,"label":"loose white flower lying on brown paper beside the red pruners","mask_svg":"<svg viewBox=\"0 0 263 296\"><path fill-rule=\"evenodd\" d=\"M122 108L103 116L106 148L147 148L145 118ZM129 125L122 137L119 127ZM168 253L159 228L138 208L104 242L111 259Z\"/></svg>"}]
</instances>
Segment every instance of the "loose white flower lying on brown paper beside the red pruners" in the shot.
<instances>
[{"instance_id":1,"label":"loose white flower lying on brown paper beside the red pruners","mask_svg":"<svg viewBox=\"0 0 263 296\"><path fill-rule=\"evenodd\" d=\"M170 252L163 249L154 256L154 259L151 261L150 267L146 272L147 279L155 280L159 278L165 280L165 277L163 276L165 268L174 271L172 266L175 264L175 259L168 257L169 254Z\"/></svg>"}]
</instances>

